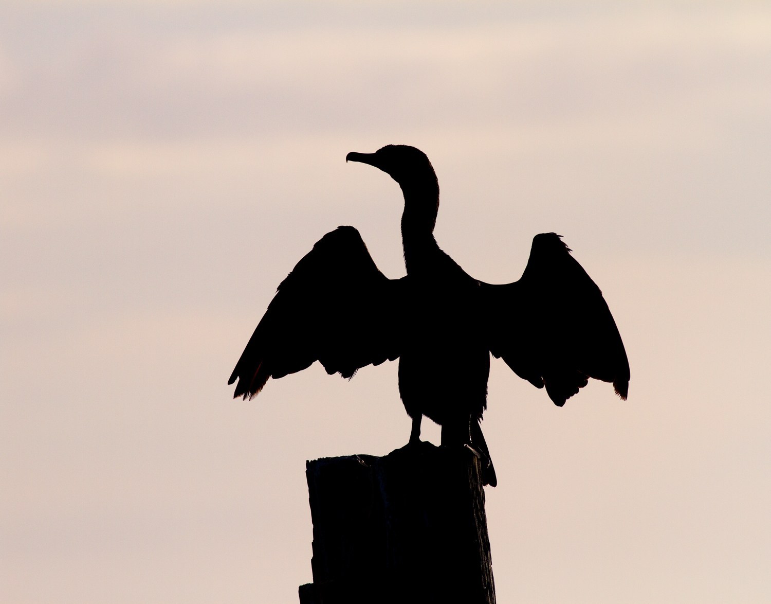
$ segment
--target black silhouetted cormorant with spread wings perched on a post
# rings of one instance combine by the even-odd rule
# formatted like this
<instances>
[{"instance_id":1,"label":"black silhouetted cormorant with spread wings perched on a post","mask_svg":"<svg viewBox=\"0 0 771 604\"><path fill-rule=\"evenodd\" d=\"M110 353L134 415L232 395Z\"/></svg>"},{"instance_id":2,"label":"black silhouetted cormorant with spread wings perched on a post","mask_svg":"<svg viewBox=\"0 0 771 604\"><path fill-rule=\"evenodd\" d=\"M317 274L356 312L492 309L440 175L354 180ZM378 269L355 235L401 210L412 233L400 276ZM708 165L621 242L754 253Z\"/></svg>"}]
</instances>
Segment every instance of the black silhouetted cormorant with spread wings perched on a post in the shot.
<instances>
[{"instance_id":1,"label":"black silhouetted cormorant with spread wings perched on a post","mask_svg":"<svg viewBox=\"0 0 771 604\"><path fill-rule=\"evenodd\" d=\"M402 189L406 277L389 279L359 231L324 235L278 286L229 384L234 398L258 394L319 361L350 378L367 365L399 358L399 394L419 443L423 416L442 426L442 444L465 445L497 477L480 421L487 408L490 353L558 406L589 378L612 383L626 399L629 364L602 293L560 235L536 235L524 273L506 285L468 275L433 236L439 183L426 154L387 145L346 161L377 167Z\"/></svg>"}]
</instances>

